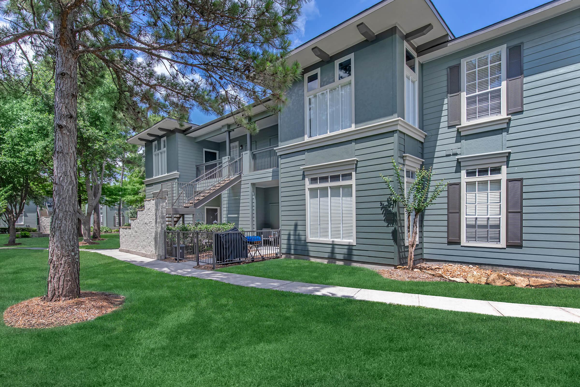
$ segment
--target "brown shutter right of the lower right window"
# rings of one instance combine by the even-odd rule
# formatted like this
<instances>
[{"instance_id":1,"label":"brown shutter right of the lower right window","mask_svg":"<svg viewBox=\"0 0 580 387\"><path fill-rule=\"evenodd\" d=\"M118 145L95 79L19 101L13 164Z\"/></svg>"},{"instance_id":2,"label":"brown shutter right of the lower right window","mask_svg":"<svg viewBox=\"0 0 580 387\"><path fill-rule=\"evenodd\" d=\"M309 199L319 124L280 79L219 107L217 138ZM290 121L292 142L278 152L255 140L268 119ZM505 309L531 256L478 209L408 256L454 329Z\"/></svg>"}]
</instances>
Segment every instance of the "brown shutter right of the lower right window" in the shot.
<instances>
[{"instance_id":1,"label":"brown shutter right of the lower right window","mask_svg":"<svg viewBox=\"0 0 580 387\"><path fill-rule=\"evenodd\" d=\"M521 246L524 238L524 180L507 179L506 244Z\"/></svg>"}]
</instances>

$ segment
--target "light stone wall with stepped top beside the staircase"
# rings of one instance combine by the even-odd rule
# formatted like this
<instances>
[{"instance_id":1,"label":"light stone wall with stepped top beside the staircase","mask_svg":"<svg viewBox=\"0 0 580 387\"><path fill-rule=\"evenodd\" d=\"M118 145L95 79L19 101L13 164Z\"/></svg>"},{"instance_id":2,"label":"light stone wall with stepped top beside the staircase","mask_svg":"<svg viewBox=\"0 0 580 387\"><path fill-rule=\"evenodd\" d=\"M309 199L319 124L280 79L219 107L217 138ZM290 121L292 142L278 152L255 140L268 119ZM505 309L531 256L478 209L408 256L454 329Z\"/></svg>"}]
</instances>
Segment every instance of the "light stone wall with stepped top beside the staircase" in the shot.
<instances>
[{"instance_id":1,"label":"light stone wall with stepped top beside the staircase","mask_svg":"<svg viewBox=\"0 0 580 387\"><path fill-rule=\"evenodd\" d=\"M163 259L165 229L165 198L148 199L145 208L132 220L131 227L119 227L119 251Z\"/></svg>"}]
</instances>

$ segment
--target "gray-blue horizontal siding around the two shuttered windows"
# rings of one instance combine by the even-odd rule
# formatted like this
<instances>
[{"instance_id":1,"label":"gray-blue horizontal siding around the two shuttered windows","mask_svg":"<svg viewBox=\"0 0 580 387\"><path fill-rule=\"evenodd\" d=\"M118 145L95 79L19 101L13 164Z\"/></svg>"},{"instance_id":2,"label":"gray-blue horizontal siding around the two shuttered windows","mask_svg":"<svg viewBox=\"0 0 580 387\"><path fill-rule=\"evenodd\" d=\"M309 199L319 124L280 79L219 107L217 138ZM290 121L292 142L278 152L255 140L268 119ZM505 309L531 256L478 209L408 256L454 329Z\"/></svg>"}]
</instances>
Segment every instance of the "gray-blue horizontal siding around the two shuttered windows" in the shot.
<instances>
[{"instance_id":1,"label":"gray-blue horizontal siding around the two shuttered windows","mask_svg":"<svg viewBox=\"0 0 580 387\"><path fill-rule=\"evenodd\" d=\"M512 151L507 178L524 179L523 247L474 248L447 244L444 193L424 220L425 258L538 269L580 269L580 10L423 64L423 130L427 165L437 179L458 182L461 136L447 127L447 73L452 64L485 49L523 43L524 111L503 131Z\"/></svg>"}]
</instances>

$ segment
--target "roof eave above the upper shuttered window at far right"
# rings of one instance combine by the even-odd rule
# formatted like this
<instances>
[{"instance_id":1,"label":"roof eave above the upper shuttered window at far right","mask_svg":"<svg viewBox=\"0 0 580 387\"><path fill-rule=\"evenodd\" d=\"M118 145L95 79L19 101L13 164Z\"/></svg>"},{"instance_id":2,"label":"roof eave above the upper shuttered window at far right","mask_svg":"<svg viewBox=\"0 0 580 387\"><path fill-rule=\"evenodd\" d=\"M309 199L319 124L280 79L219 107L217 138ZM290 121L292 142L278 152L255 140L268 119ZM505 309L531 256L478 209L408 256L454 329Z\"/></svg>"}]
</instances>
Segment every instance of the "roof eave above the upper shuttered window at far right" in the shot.
<instances>
[{"instance_id":1,"label":"roof eave above the upper shuttered window at far right","mask_svg":"<svg viewBox=\"0 0 580 387\"><path fill-rule=\"evenodd\" d=\"M579 7L580 0L554 0L519 13L518 15L509 17L508 19L498 21L498 23L491 24L491 26L470 32L469 34L438 44L432 48L422 50L418 52L418 56L421 62L429 62L430 60L449 55L450 53L501 37L502 35L509 34L513 31L521 30L521 28L540 23L541 21L551 19L552 17L562 15L563 13L570 12Z\"/></svg>"}]
</instances>

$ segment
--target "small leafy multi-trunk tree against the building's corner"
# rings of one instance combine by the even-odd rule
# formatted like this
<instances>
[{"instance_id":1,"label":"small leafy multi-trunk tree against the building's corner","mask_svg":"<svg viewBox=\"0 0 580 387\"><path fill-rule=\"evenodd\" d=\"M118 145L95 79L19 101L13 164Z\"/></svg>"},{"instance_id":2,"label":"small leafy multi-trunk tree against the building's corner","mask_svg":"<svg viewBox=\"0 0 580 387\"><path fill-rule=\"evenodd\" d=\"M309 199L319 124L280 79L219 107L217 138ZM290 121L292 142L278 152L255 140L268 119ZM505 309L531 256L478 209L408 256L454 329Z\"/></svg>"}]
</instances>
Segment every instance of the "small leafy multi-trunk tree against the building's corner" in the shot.
<instances>
[{"instance_id":1,"label":"small leafy multi-trunk tree against the building's corner","mask_svg":"<svg viewBox=\"0 0 580 387\"><path fill-rule=\"evenodd\" d=\"M407 269L412 269L413 260L415 256L415 247L417 245L417 219L419 215L425 211L427 207L433 204L433 201L443 192L447 183L443 180L437 182L433 188L431 182L433 178L433 169L425 169L425 167L417 168L415 171L415 181L407 185L407 190L404 187L404 169L393 160L393 169L396 176L396 183L398 189L393 186L394 181L387 176L380 177L385 180L391 198L393 201L402 205L405 209L405 216L407 218L407 240L409 241L409 251L407 258ZM403 176L401 176L403 175ZM413 223L411 226L411 214L414 214Z\"/></svg>"}]
</instances>

